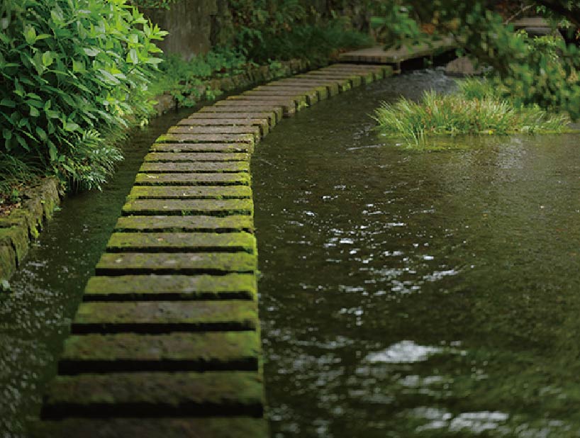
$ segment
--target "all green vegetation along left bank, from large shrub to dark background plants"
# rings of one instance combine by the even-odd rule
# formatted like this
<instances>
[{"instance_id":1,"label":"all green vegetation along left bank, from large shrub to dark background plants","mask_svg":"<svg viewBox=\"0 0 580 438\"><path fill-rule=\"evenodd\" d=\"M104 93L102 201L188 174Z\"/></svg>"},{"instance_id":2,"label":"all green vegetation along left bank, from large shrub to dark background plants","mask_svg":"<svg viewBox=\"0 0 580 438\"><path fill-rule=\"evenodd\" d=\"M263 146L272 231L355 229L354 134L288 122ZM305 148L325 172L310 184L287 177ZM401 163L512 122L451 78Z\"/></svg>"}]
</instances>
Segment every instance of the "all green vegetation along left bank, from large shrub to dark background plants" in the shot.
<instances>
[{"instance_id":1,"label":"all green vegetation along left bank, from large shrub to dark background plants","mask_svg":"<svg viewBox=\"0 0 580 438\"><path fill-rule=\"evenodd\" d=\"M186 62L162 56L155 40L166 32L135 9L173 3L0 4L0 203L38 175L55 174L69 189L100 188L122 159L116 144L145 123L158 94L191 105L220 93L208 87L214 77L294 57L323 64L339 47L369 44L348 21L308 22L311 11L298 1L230 0L238 49Z\"/></svg>"}]
</instances>

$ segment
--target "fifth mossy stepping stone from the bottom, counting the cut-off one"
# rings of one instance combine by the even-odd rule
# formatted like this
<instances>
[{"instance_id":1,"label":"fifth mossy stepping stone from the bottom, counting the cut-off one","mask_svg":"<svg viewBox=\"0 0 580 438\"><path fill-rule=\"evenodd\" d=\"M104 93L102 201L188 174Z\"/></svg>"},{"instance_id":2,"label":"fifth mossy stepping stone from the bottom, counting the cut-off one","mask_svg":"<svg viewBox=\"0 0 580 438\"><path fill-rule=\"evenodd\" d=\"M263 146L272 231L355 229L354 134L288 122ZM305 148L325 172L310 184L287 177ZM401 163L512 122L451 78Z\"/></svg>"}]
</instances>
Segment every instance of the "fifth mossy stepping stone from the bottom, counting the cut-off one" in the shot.
<instances>
[{"instance_id":1,"label":"fifth mossy stepping stone from the bottom, counting the cut-off one","mask_svg":"<svg viewBox=\"0 0 580 438\"><path fill-rule=\"evenodd\" d=\"M256 300L252 274L95 276L84 301Z\"/></svg>"}]
</instances>

